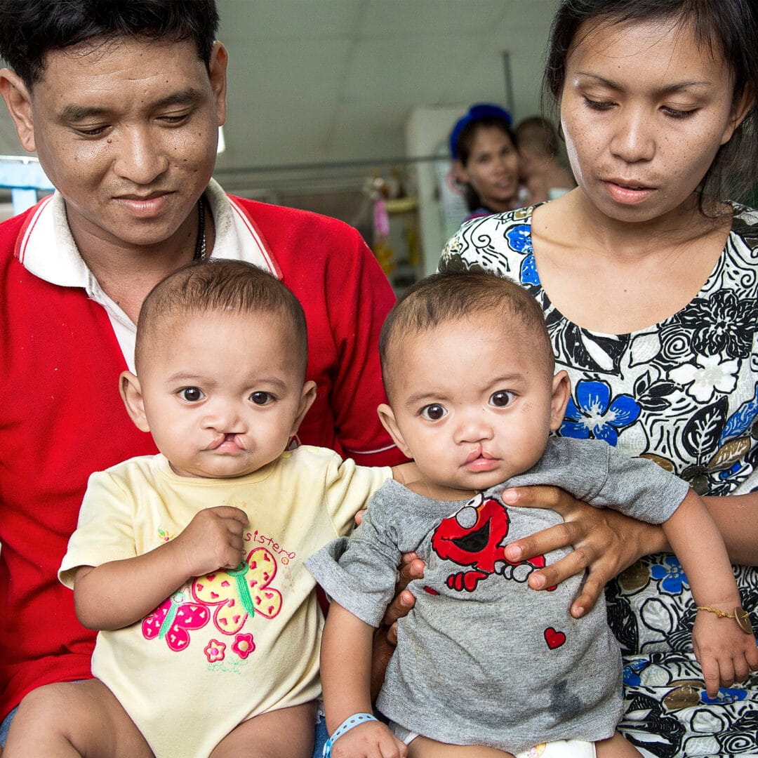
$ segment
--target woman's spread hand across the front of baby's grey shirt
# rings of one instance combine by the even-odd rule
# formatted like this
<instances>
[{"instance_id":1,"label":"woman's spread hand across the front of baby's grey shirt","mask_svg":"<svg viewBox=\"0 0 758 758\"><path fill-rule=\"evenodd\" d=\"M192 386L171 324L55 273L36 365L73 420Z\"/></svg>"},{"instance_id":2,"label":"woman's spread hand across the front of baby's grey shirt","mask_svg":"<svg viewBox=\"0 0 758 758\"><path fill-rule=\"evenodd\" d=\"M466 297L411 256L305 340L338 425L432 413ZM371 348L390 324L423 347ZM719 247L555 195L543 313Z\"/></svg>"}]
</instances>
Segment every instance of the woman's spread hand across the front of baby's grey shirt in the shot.
<instances>
[{"instance_id":1,"label":"woman's spread hand across the front of baby's grey shirt","mask_svg":"<svg viewBox=\"0 0 758 758\"><path fill-rule=\"evenodd\" d=\"M515 487L500 495L506 506L547 508L563 517L563 523L543 529L506 547L511 561L534 558L559 547L573 547L572 553L533 572L529 586L534 590L553 587L587 569L581 594L571 606L580 618L590 610L608 582L641 556L668 549L659 526L645 524L608 508L576 500L559 487Z\"/></svg>"}]
</instances>

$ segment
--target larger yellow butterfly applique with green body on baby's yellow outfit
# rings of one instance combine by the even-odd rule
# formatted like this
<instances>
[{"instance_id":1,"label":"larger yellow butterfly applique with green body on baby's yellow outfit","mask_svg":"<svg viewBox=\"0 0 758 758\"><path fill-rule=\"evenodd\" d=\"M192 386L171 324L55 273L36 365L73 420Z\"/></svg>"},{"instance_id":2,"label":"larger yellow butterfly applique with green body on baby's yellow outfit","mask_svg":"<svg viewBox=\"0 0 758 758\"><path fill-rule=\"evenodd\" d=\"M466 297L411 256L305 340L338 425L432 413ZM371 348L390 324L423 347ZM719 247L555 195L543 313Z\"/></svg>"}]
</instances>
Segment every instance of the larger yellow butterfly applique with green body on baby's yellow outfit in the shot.
<instances>
[{"instance_id":1,"label":"larger yellow butterfly applique with green body on baby's yellow outfit","mask_svg":"<svg viewBox=\"0 0 758 758\"><path fill-rule=\"evenodd\" d=\"M218 571L195 579L193 597L216 606L213 622L222 634L236 634L255 613L273 619L282 606L279 590L271 587L277 562L265 547L251 550L247 559L230 571Z\"/></svg>"}]
</instances>

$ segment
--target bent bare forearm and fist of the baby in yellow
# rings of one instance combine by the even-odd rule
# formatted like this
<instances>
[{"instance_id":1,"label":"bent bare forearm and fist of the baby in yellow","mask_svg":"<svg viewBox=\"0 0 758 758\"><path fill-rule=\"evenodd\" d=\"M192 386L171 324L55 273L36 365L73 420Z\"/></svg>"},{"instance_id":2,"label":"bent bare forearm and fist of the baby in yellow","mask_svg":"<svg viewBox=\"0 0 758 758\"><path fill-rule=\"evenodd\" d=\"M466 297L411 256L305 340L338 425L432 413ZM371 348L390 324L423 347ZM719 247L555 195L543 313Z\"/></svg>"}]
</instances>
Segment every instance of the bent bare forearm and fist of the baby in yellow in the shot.
<instances>
[{"instance_id":1,"label":"bent bare forearm and fist of the baby in yellow","mask_svg":"<svg viewBox=\"0 0 758 758\"><path fill-rule=\"evenodd\" d=\"M181 534L141 556L83 565L74 605L89 629L120 629L142 619L193 576L236 568L244 559L245 512L231 506L199 511Z\"/></svg>"}]
</instances>

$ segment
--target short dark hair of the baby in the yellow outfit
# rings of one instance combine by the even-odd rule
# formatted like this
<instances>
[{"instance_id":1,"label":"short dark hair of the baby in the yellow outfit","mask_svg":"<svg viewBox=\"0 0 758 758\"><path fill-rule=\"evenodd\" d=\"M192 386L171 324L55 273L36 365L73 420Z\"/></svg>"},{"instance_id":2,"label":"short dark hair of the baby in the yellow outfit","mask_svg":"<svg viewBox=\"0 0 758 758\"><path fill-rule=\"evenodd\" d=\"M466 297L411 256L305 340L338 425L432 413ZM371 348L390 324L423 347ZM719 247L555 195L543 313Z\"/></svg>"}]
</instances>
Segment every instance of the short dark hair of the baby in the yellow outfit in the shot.
<instances>
[{"instance_id":1,"label":"short dark hair of the baby in the yellow outfit","mask_svg":"<svg viewBox=\"0 0 758 758\"><path fill-rule=\"evenodd\" d=\"M288 322L292 334L287 341L305 377L308 331L302 305L268 271L252 263L228 260L190 264L174 271L150 290L137 321L134 348L137 374L146 359L152 336L161 324L179 316L209 312L270 315Z\"/></svg>"}]
</instances>

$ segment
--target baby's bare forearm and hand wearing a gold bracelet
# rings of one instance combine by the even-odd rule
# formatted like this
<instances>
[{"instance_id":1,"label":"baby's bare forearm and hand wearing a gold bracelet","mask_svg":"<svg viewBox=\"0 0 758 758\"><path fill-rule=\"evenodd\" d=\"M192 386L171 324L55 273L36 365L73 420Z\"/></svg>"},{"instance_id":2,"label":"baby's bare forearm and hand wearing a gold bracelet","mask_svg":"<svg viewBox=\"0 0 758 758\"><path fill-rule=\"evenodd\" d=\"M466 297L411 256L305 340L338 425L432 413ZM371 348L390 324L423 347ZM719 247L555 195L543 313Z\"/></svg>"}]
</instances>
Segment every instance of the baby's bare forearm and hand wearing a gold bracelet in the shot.
<instances>
[{"instance_id":1,"label":"baby's bare forearm and hand wearing a gold bracelet","mask_svg":"<svg viewBox=\"0 0 758 758\"><path fill-rule=\"evenodd\" d=\"M724 540L703 500L689 490L662 527L684 568L697 606L734 614L741 606L740 593ZM719 683L728 686L735 678L747 679L750 669L758 669L755 637L742 631L734 619L698 611L692 645L710 697L718 693Z\"/></svg>"}]
</instances>

